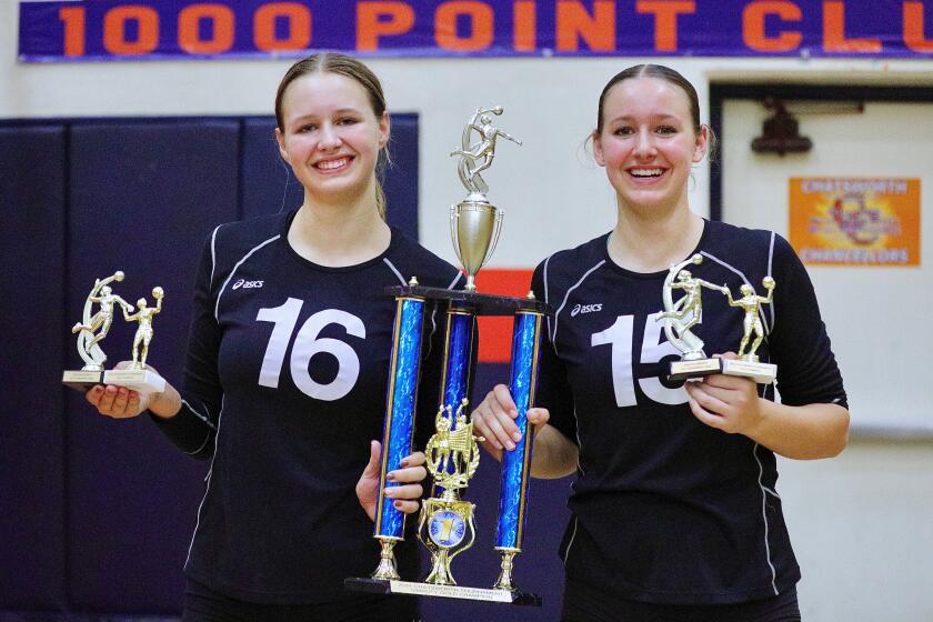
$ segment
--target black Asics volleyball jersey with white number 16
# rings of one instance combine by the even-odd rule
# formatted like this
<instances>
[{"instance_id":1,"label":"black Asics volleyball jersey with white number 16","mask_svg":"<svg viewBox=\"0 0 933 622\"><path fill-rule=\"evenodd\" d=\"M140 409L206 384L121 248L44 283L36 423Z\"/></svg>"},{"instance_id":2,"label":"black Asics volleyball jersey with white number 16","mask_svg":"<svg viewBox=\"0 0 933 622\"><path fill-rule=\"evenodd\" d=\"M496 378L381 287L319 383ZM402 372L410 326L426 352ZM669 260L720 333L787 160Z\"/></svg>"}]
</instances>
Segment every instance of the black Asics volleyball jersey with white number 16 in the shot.
<instances>
[{"instance_id":1,"label":"black Asics volleyball jersey with white number 16","mask_svg":"<svg viewBox=\"0 0 933 622\"><path fill-rule=\"evenodd\" d=\"M317 265L287 242L294 213L214 230L194 290L183 408L153 418L182 450L211 459L185 573L250 602L352 599L343 580L375 569L354 486L370 440L382 438L395 312L383 290L411 277L460 281L395 229L370 261ZM421 422L437 409L443 321L425 304ZM413 539L395 551L415 574Z\"/></svg>"}]
</instances>

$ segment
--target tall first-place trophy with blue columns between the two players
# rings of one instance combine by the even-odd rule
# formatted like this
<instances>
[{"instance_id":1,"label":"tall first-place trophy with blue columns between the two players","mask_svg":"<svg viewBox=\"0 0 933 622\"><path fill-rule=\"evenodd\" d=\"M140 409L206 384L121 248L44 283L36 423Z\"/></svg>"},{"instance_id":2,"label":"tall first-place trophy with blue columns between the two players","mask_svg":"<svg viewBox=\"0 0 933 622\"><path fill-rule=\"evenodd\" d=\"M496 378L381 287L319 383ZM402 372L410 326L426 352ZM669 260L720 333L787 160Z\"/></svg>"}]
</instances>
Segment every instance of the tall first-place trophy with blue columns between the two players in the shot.
<instances>
[{"instance_id":1,"label":"tall first-place trophy with blue columns between the two players","mask_svg":"<svg viewBox=\"0 0 933 622\"><path fill-rule=\"evenodd\" d=\"M407 287L389 288L395 297L395 328L390 362L385 427L382 439L380 495L377 503L373 538L381 546L380 562L369 579L348 579L351 590L379 593L402 593L428 596L471 599L491 602L540 605L535 594L515 588L513 559L522 550L531 450L534 428L529 425L528 410L534 403L538 361L545 305L529 293L528 298L489 295L475 291L474 278L495 248L502 225L502 213L486 198L489 185L480 175L495 154L499 137L518 144L520 141L495 128L492 114L502 108L480 109L463 130L458 173L468 195L451 208L451 235L466 283L463 290L425 288L412 278ZM479 134L473 141L474 133ZM427 469L434 481L433 493L422 502L418 518L418 538L431 553L431 571L422 582L403 581L399 576L393 548L404 539L405 514L397 510L392 499L383 494L385 486L399 485L385 474L400 468L401 460L412 452L417 384L421 362L421 332L425 301L447 305L447 329L441 403L432 422L435 433L424 448ZM465 588L457 584L451 562L473 545L475 540L475 504L462 499L470 478L480 463L480 448L473 424L469 421L469 397L473 378L473 345L478 315L514 315L510 389L519 411L515 424L522 434L515 450L502 459L499 520L494 548L501 555L501 571L490 588ZM419 448L420 449L420 448Z\"/></svg>"}]
</instances>

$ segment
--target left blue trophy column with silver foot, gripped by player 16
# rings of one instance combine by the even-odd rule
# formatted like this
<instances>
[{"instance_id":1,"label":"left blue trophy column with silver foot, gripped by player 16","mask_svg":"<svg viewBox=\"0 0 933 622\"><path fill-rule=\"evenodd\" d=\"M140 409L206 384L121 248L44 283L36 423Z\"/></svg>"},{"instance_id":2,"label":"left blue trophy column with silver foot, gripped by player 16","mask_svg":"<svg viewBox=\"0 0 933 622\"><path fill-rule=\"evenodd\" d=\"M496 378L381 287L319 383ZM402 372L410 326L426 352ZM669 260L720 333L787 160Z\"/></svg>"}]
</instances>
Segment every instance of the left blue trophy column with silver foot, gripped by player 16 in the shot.
<instances>
[{"instance_id":1,"label":"left blue trophy column with silver foot, gripped by player 16","mask_svg":"<svg viewBox=\"0 0 933 622\"><path fill-rule=\"evenodd\" d=\"M379 540L382 551L379 568L372 574L373 579L390 580L400 579L392 549L395 542L404 540L405 515L397 510L393 500L383 493L387 485L399 485L397 482L387 482L385 473L398 469L402 459L411 453L421 362L421 327L424 319L423 298L402 295L397 298L395 302L395 328L385 398L385 428L382 433L382 471L379 475L379 500L373 531L373 538Z\"/></svg>"}]
</instances>

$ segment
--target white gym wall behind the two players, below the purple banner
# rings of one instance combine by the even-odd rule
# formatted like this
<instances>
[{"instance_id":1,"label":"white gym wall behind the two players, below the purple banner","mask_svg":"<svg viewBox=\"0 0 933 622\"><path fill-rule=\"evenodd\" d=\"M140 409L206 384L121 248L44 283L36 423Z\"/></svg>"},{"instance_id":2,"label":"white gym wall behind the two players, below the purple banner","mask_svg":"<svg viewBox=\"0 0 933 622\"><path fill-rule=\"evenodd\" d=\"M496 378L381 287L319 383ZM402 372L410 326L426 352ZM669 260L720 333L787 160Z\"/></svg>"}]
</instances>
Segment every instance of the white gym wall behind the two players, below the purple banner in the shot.
<instances>
[{"instance_id":1,"label":"white gym wall behind the two players, below the purple banner","mask_svg":"<svg viewBox=\"0 0 933 622\"><path fill-rule=\"evenodd\" d=\"M17 3L0 2L0 118L269 114L290 64L18 64L17 33ZM582 146L595 123L603 84L643 60L373 60L391 110L421 118L421 241L454 261L448 207L462 198L463 189L448 153L458 146L471 111L492 104L505 107L500 126L524 146L502 142L488 175L491 199L506 212L491 265L531 268L554 250L608 231L614 220L613 195ZM706 118L713 80L933 84L933 61L661 62L696 86ZM705 167L695 179L691 204L706 214ZM804 566L801 595L807 620L933 620L933 593L923 589L933 576L931 449L923 443L860 442L834 461L783 464L779 490ZM904 565L904 559L911 564Z\"/></svg>"}]
</instances>

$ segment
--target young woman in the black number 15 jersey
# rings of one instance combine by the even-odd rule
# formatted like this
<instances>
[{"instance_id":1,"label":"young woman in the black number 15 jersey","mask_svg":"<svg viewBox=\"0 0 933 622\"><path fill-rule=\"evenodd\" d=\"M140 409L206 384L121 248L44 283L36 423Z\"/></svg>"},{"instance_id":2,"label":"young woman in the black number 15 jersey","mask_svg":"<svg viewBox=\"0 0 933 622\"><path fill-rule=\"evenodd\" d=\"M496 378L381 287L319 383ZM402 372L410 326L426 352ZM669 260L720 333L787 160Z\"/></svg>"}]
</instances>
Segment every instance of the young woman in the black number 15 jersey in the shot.
<instances>
[{"instance_id":1,"label":"young woman in the black number 15 jersey","mask_svg":"<svg viewBox=\"0 0 933 622\"><path fill-rule=\"evenodd\" d=\"M542 347L532 474L576 473L561 545L566 622L791 622L800 569L775 489L775 454L832 457L845 447L842 379L806 271L779 235L690 211L690 169L709 144L696 92L660 66L622 71L601 97L593 153L615 191L608 234L544 260L532 289L554 315ZM776 363L772 385L712 374L666 380L680 358L659 317L669 268L700 253L698 278L759 293ZM703 292L692 331L734 357L743 313ZM518 440L514 403L496 387L474 412L488 449ZM548 425L543 425L544 423Z\"/></svg>"}]
</instances>

